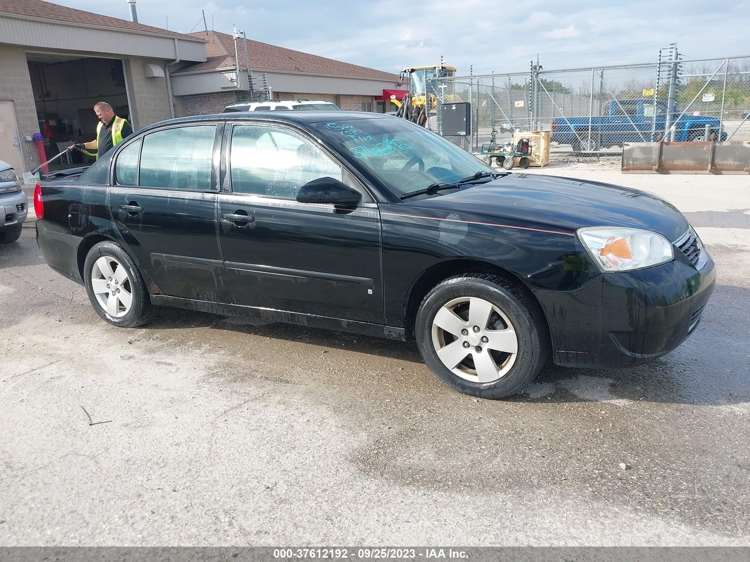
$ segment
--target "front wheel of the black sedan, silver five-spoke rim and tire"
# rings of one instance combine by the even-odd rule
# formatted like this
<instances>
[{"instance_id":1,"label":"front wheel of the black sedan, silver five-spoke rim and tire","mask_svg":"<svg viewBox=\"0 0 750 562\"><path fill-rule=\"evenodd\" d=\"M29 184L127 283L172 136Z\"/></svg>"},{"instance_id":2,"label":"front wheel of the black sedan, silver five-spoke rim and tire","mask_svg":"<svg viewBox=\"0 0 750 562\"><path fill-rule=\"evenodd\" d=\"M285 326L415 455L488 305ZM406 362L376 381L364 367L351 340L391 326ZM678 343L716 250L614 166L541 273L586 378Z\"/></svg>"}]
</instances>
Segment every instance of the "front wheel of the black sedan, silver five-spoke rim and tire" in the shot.
<instances>
[{"instance_id":1,"label":"front wheel of the black sedan, silver five-spoke rim and tire","mask_svg":"<svg viewBox=\"0 0 750 562\"><path fill-rule=\"evenodd\" d=\"M419 307L416 339L440 381L487 399L517 393L549 353L538 305L493 274L460 274L433 288Z\"/></svg>"}]
</instances>

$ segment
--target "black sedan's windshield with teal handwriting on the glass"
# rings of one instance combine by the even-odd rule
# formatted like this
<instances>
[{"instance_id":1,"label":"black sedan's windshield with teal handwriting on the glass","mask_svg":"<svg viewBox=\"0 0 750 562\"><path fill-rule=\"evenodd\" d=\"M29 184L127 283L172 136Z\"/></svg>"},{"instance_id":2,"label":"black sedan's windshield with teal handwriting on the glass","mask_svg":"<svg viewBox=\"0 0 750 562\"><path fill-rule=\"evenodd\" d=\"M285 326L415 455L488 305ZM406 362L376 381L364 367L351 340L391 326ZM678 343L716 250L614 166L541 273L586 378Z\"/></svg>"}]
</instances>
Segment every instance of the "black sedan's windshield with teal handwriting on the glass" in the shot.
<instances>
[{"instance_id":1,"label":"black sedan's windshield with teal handwriting on the glass","mask_svg":"<svg viewBox=\"0 0 750 562\"><path fill-rule=\"evenodd\" d=\"M397 196L495 172L473 154L399 118L314 123L326 141L348 151Z\"/></svg>"}]
</instances>

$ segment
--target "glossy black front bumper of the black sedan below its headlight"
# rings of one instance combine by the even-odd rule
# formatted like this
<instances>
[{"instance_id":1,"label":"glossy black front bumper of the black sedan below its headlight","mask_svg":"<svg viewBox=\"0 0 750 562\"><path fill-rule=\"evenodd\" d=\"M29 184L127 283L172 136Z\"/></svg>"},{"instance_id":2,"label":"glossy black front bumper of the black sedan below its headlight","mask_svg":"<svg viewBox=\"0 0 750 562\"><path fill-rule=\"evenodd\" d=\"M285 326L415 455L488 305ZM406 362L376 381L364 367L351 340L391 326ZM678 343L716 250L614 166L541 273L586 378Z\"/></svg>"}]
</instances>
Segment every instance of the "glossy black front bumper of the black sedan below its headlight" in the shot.
<instances>
[{"instance_id":1,"label":"glossy black front bumper of the black sedan below its headlight","mask_svg":"<svg viewBox=\"0 0 750 562\"><path fill-rule=\"evenodd\" d=\"M575 291L534 291L558 365L614 369L673 351L695 330L715 285L701 250L697 267L679 251L664 265L601 274Z\"/></svg>"}]
</instances>

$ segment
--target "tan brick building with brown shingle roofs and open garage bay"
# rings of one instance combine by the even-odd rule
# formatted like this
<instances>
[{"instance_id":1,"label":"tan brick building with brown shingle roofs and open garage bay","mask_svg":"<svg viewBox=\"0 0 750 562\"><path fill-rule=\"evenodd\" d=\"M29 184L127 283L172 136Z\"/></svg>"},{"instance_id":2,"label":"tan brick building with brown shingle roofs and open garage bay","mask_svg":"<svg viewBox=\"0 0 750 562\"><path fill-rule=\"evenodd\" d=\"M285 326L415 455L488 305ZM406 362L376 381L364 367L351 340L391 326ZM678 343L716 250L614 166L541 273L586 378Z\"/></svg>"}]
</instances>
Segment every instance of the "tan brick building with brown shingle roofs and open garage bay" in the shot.
<instances>
[{"instance_id":1,"label":"tan brick building with brown shingle roofs and open garage bay","mask_svg":"<svg viewBox=\"0 0 750 562\"><path fill-rule=\"evenodd\" d=\"M123 15L127 4L122 4ZM41 0L0 0L0 160L17 173L95 138L107 101L134 129L255 97L323 99L373 111L398 76L232 35L179 34ZM235 60L235 52L242 53ZM253 86L253 88L251 88ZM265 99L265 98L264 98ZM64 165L86 163L80 152Z\"/></svg>"}]
</instances>

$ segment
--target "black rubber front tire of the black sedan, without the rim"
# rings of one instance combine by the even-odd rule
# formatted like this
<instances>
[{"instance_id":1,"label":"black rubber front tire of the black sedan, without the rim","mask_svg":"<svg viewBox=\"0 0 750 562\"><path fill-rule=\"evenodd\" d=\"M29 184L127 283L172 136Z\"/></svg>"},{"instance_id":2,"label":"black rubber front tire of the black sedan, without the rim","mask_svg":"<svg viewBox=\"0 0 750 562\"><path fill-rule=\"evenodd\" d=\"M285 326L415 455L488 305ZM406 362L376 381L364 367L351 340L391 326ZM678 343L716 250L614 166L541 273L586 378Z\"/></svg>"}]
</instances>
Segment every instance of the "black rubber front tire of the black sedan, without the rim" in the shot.
<instances>
[{"instance_id":1,"label":"black rubber front tire of the black sedan, without the rim","mask_svg":"<svg viewBox=\"0 0 750 562\"><path fill-rule=\"evenodd\" d=\"M496 381L466 380L446 367L437 355L432 331L434 318L446 303L462 297L489 301L513 324L517 354L508 372ZM440 282L422 300L415 330L419 351L434 375L453 390L478 398L501 399L517 393L538 374L550 349L547 325L538 304L516 285L494 274L458 274Z\"/></svg>"}]
</instances>

